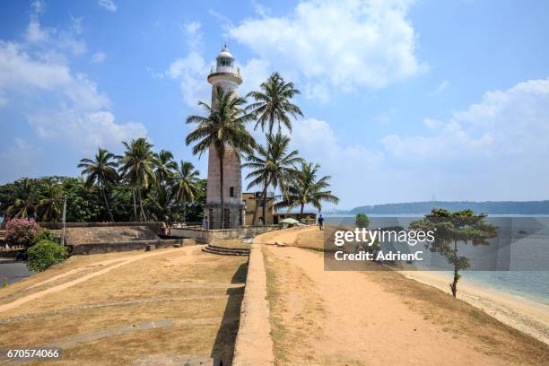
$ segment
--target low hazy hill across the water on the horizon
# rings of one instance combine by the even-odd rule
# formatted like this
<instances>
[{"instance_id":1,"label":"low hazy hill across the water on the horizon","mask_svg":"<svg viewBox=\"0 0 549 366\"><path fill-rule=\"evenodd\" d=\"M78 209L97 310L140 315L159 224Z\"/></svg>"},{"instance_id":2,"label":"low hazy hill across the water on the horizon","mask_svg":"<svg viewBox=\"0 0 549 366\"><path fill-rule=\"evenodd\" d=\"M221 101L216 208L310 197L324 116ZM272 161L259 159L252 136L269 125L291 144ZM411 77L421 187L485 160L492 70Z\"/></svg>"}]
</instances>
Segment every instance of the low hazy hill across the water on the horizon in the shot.
<instances>
[{"instance_id":1,"label":"low hazy hill across the water on the horizon","mask_svg":"<svg viewBox=\"0 0 549 366\"><path fill-rule=\"evenodd\" d=\"M449 211L465 210L487 214L549 214L549 201L486 201L486 202L410 202L406 204L363 205L355 207L349 213L429 213L431 208L445 208Z\"/></svg>"}]
</instances>

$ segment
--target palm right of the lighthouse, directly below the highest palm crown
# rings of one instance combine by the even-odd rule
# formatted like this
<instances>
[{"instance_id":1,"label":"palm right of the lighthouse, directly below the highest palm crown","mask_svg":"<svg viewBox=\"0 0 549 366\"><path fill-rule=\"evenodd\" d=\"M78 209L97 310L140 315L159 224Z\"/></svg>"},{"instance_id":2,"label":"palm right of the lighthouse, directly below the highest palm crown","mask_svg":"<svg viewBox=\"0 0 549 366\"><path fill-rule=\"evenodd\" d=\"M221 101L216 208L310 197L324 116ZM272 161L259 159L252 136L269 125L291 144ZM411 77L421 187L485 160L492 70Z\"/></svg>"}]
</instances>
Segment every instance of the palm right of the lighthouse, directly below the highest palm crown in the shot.
<instances>
[{"instance_id":1,"label":"palm right of the lighthouse, directly below the highest palm crown","mask_svg":"<svg viewBox=\"0 0 549 366\"><path fill-rule=\"evenodd\" d=\"M250 168L252 171L246 179L252 179L248 184L250 187L263 186L261 193L263 220L266 223L266 195L267 188L272 184L286 190L287 183L292 175L297 173L295 164L301 162L298 151L288 152L290 138L282 135L280 131L276 135L266 135L266 145L257 146L257 154L248 156L248 162L242 164L243 168ZM257 205L254 212L252 224L256 224Z\"/></svg>"}]
</instances>

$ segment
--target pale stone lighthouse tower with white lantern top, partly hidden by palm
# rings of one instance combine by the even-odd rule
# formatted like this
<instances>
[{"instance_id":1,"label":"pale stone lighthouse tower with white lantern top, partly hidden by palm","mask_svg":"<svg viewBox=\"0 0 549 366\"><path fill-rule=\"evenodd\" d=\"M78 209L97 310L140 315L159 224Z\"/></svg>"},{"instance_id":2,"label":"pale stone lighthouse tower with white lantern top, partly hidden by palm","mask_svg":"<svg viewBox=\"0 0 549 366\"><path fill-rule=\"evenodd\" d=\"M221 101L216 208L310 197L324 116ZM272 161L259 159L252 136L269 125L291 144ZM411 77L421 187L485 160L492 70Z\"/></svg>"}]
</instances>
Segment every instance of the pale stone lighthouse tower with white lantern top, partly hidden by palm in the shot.
<instances>
[{"instance_id":1,"label":"pale stone lighthouse tower with white lantern top, partly hidden by palm","mask_svg":"<svg viewBox=\"0 0 549 366\"><path fill-rule=\"evenodd\" d=\"M234 65L229 48L225 45L215 58L216 65L208 75L208 83L212 84L212 108L215 109L215 89L221 87L225 92L238 92L242 83L240 70ZM205 216L208 216L210 229L235 229L244 224L244 202L242 201L242 171L240 157L231 146L225 146L223 156L223 222L221 169L215 146L210 145L208 151L208 185L206 192Z\"/></svg>"}]
</instances>

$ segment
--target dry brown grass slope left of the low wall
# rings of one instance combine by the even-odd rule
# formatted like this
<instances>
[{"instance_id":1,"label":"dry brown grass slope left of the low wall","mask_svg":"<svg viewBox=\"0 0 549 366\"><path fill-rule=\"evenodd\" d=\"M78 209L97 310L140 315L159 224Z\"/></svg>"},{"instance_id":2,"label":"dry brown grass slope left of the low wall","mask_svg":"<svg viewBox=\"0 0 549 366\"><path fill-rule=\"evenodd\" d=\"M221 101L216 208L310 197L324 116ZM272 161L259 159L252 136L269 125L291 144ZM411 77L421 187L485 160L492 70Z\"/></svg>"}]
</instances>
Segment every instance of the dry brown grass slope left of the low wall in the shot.
<instances>
[{"instance_id":1,"label":"dry brown grass slope left of the low wall","mask_svg":"<svg viewBox=\"0 0 549 366\"><path fill-rule=\"evenodd\" d=\"M153 356L159 364L198 355L231 360L248 258L206 254L200 247L152 253L160 255L0 313L2 348L61 345L63 358L51 365L146 363ZM108 267L93 267L98 261L142 254L71 257L0 290L0 301ZM75 268L83 271L30 289ZM143 327L151 322L163 326Z\"/></svg>"}]
</instances>

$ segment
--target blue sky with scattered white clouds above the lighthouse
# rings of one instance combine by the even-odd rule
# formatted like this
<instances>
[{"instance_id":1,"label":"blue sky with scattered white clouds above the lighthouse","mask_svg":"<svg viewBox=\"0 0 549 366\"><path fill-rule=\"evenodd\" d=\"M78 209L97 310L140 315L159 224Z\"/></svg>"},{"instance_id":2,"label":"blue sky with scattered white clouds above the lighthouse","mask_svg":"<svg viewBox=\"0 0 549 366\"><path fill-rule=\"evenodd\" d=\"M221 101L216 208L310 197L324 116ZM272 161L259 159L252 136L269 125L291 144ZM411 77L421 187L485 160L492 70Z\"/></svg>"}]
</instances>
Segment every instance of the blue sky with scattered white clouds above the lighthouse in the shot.
<instances>
[{"instance_id":1,"label":"blue sky with scattered white clouds above the lighthouse","mask_svg":"<svg viewBox=\"0 0 549 366\"><path fill-rule=\"evenodd\" d=\"M0 183L76 175L141 135L205 176L184 120L230 39L241 93L274 70L301 90L292 144L340 208L548 199L548 16L546 1L2 2Z\"/></svg>"}]
</instances>

